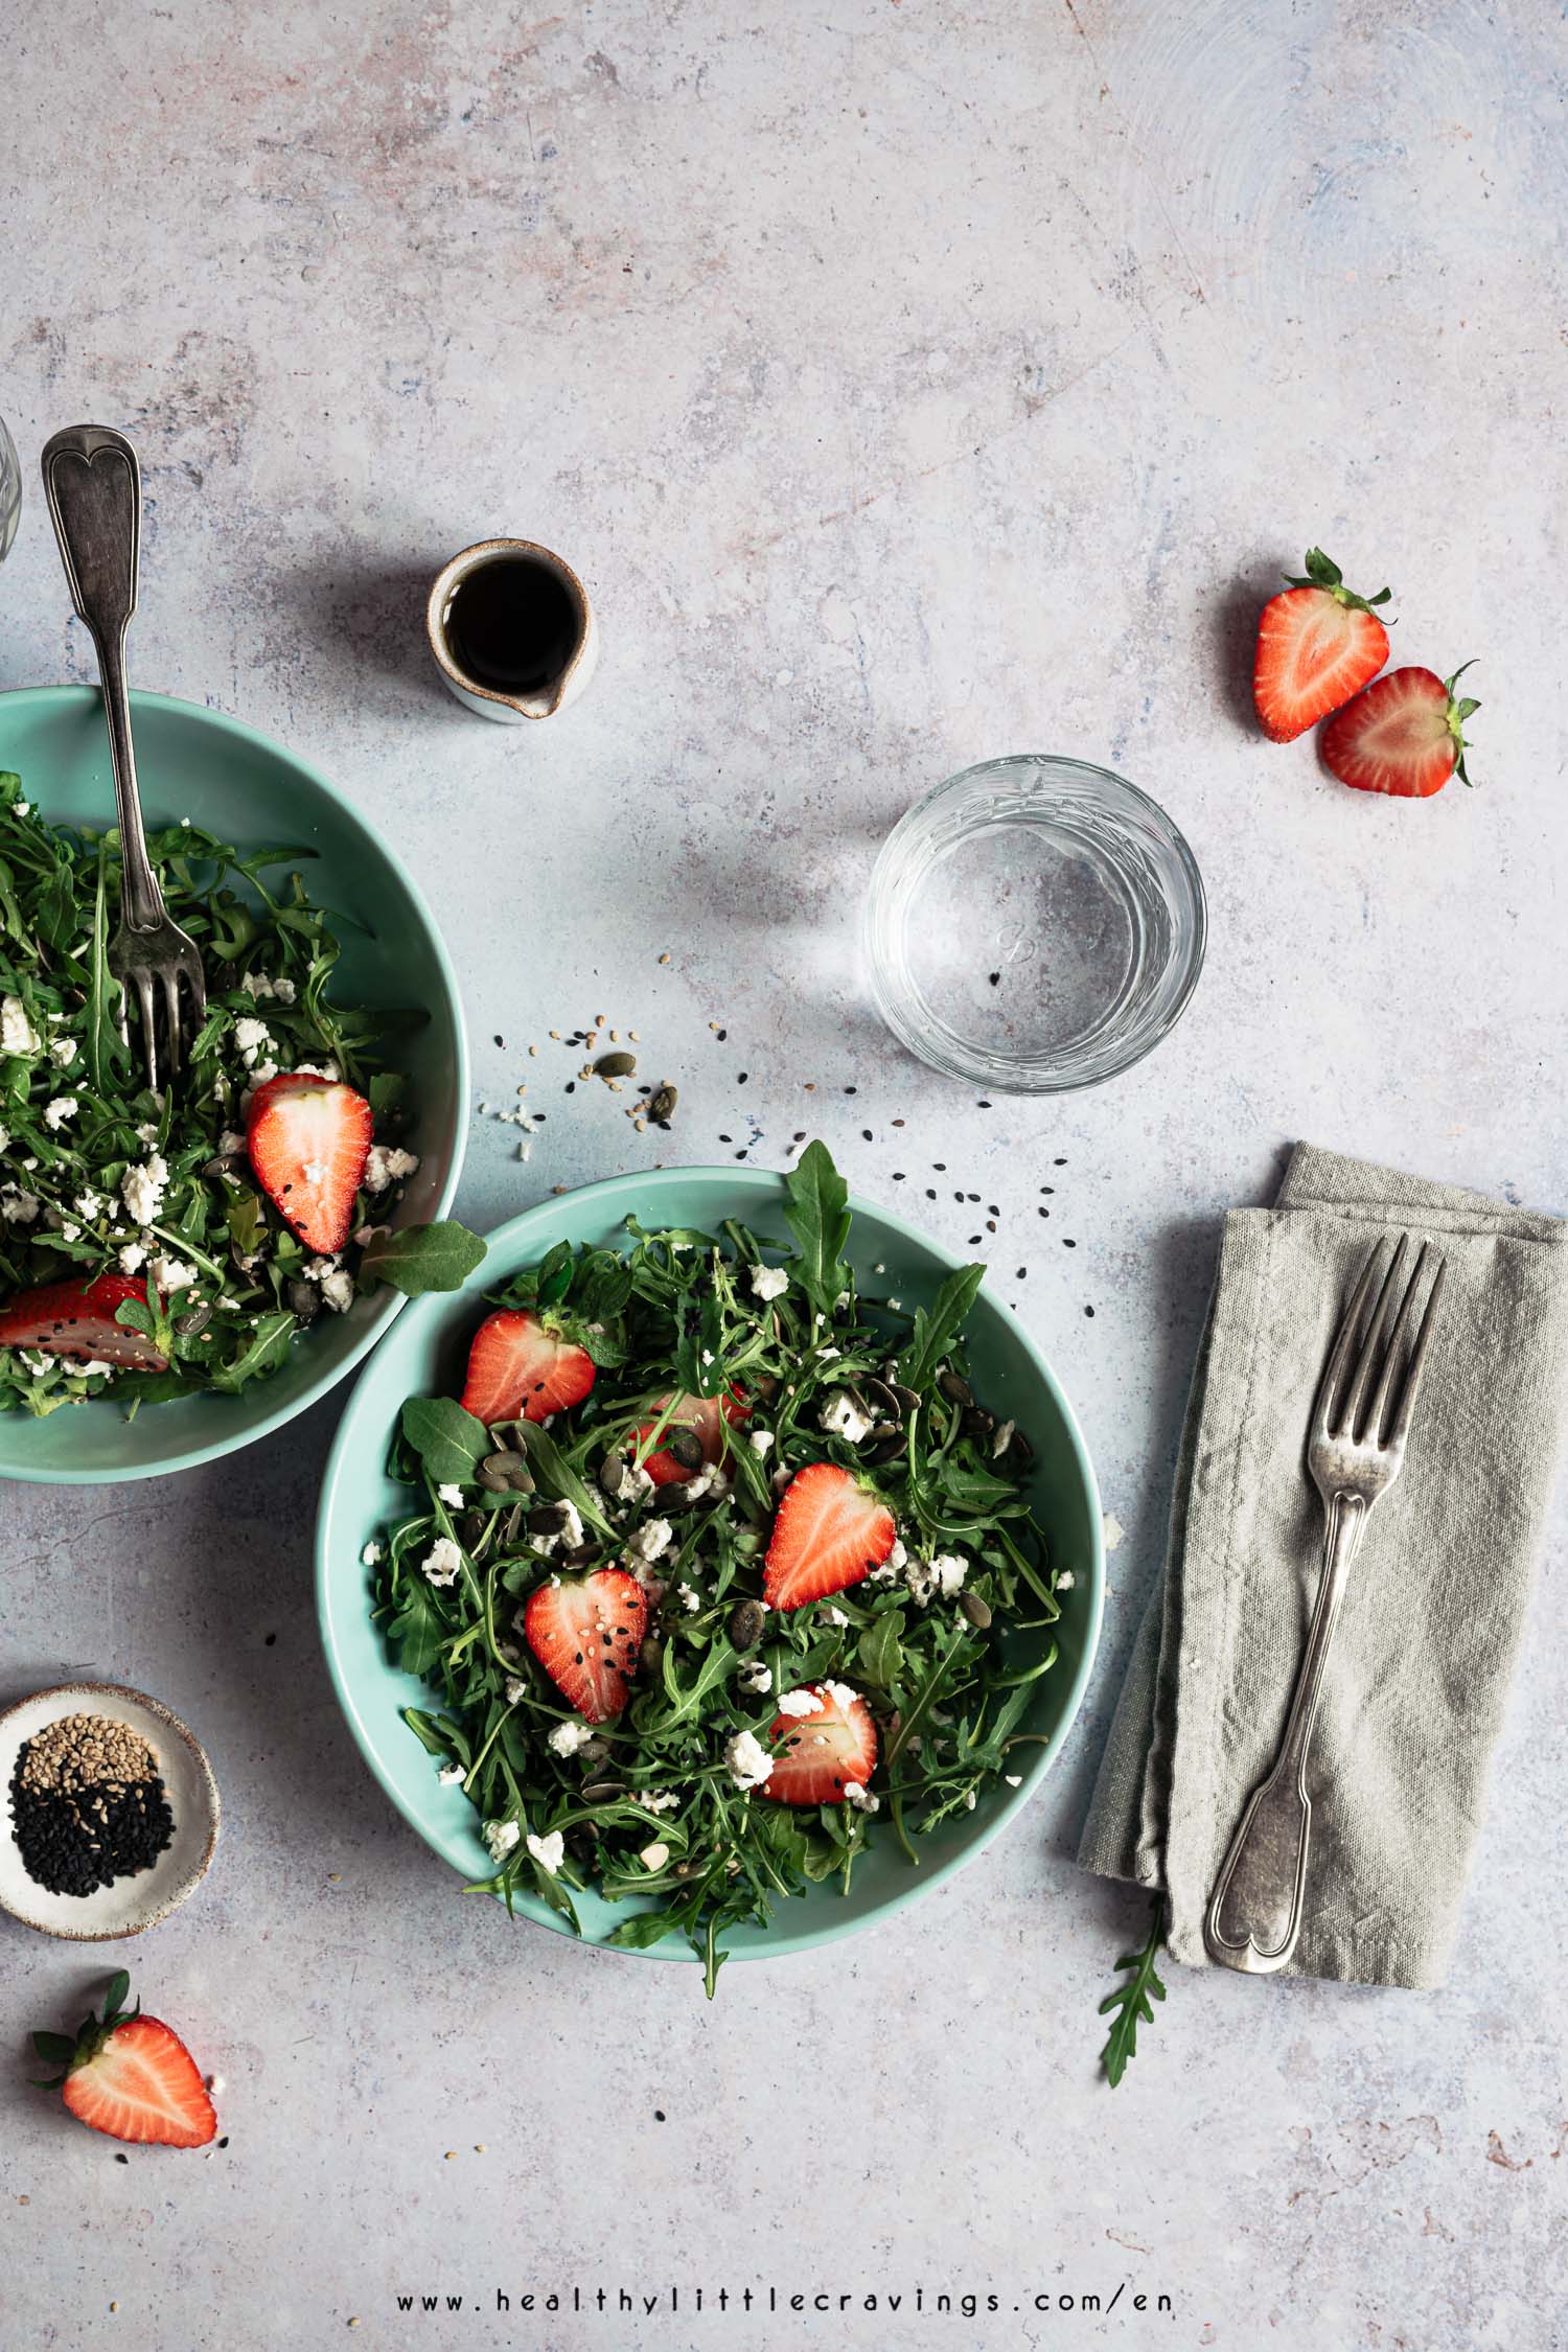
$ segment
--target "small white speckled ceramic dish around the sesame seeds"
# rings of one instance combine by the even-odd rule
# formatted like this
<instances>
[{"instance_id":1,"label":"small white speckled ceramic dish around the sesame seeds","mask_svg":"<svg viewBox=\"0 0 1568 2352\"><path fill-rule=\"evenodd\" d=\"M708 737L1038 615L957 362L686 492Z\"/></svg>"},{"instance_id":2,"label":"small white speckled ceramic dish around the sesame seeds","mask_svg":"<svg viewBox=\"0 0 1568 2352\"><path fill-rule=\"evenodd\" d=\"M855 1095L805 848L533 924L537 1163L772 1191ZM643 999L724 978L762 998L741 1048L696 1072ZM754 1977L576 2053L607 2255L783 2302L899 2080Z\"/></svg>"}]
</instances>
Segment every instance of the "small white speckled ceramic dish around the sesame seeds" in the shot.
<instances>
[{"instance_id":1,"label":"small white speckled ceramic dish around the sesame seeds","mask_svg":"<svg viewBox=\"0 0 1568 2352\"><path fill-rule=\"evenodd\" d=\"M26 1740L59 1722L61 1715L108 1715L136 1731L153 1755L169 1792L174 1842L150 1870L94 1886L89 1896L52 1896L21 1860L12 1823L12 1773ZM71 1943L108 1943L115 1936L141 1936L179 1910L207 1877L207 1863L219 1842L219 1783L195 1733L179 1715L146 1691L127 1691L120 1682L61 1682L52 1691L33 1691L0 1715L0 1910L42 1936L66 1936Z\"/></svg>"}]
</instances>

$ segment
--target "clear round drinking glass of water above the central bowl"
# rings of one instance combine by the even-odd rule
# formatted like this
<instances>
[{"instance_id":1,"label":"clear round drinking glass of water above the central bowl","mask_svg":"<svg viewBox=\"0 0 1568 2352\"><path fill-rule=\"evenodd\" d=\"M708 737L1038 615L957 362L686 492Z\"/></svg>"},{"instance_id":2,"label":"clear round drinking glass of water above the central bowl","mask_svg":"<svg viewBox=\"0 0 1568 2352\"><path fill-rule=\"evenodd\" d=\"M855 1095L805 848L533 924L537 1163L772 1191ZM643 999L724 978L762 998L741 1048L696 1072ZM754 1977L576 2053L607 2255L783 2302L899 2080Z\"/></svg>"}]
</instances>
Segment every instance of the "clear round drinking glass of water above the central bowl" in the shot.
<instances>
[{"instance_id":1,"label":"clear round drinking glass of water above the central bowl","mask_svg":"<svg viewBox=\"0 0 1568 2352\"><path fill-rule=\"evenodd\" d=\"M1004 1094L1095 1087L1182 1016L1204 967L1204 882L1171 818L1110 769L987 760L882 844L865 908L893 1035Z\"/></svg>"}]
</instances>

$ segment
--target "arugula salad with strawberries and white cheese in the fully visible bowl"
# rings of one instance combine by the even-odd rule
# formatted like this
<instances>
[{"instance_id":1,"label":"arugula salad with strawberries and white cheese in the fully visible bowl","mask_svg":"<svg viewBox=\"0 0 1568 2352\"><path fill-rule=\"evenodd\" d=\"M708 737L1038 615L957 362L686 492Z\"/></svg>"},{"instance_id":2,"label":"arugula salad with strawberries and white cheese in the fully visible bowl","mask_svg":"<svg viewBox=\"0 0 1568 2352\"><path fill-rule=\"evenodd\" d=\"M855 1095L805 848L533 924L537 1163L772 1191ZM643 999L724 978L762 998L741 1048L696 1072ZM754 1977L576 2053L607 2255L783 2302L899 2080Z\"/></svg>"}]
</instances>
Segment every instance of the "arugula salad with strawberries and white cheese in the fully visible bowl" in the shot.
<instances>
[{"instance_id":1,"label":"arugula salad with strawberries and white cheese in the fully visible bowl","mask_svg":"<svg viewBox=\"0 0 1568 2352\"><path fill-rule=\"evenodd\" d=\"M729 1929L1006 1778L1056 1663L1027 1439L966 1376L985 1268L863 1298L823 1143L785 1188L783 1263L630 1218L496 1291L461 1399L404 1404L416 1501L364 1550L477 1884L571 1926L581 1889L642 1898L609 1943L689 1938L710 1994Z\"/></svg>"}]
</instances>

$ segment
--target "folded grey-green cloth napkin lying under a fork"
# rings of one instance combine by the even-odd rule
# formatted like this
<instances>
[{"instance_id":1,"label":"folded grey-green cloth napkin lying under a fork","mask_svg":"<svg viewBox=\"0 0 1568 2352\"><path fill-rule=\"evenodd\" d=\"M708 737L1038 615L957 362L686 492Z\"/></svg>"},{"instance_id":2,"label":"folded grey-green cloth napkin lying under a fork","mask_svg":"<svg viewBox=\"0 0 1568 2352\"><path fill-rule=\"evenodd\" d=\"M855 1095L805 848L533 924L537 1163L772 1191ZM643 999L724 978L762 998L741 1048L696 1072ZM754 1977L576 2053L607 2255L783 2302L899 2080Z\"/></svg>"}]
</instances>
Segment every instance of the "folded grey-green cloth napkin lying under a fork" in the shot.
<instances>
[{"instance_id":1,"label":"folded grey-green cloth napkin lying under a fork","mask_svg":"<svg viewBox=\"0 0 1568 2352\"><path fill-rule=\"evenodd\" d=\"M1079 1846L1086 1870L1164 1889L1185 1962L1208 1962L1208 1896L1284 1731L1324 1550L1307 1425L1389 1228L1448 1275L1328 1661L1291 1966L1378 1985L1448 1966L1568 1406L1568 1225L1305 1143L1274 1209L1225 1218L1166 1573Z\"/></svg>"}]
</instances>

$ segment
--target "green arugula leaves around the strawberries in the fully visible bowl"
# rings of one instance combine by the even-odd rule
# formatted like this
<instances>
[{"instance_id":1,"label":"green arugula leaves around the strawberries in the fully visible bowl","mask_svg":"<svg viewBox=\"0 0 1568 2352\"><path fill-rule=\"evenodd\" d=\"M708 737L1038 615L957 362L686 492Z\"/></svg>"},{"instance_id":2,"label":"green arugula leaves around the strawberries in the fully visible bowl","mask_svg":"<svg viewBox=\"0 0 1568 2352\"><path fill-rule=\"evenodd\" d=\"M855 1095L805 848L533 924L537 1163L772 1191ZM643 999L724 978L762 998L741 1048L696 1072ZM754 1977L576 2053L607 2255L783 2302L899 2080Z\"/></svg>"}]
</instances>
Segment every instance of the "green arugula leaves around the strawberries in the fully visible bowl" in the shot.
<instances>
[{"instance_id":1,"label":"green arugula leaves around the strawberries in the fully visible bowl","mask_svg":"<svg viewBox=\"0 0 1568 2352\"><path fill-rule=\"evenodd\" d=\"M371 1566L393 1656L433 1691L414 1731L433 1757L463 1766L480 1823L501 1825L501 1860L477 1884L508 1903L541 1896L574 1924L576 1893L597 1886L630 1905L618 1947L684 1936L710 1990L738 1926L766 1924L802 1889L846 1889L867 1839L891 1835L914 1858L931 1830L980 1802L1011 1748L1032 1738L1027 1715L1056 1656L1048 1635L1041 1646L1053 1576L1020 1461L1006 1446L992 1458L994 1432L936 1388L943 1362L964 1367L978 1268L952 1277L910 1329L898 1310L856 1296L846 1185L823 1145L802 1155L785 1211L797 1254L776 1298L750 1284L762 1247L743 1225L649 1232L635 1218L623 1249L555 1244L489 1294L590 1348L595 1383L550 1428L487 1430L454 1399L409 1399L393 1470L411 1496ZM907 1348L926 1388L898 1451L867 1470L823 1414L835 1390L879 1383ZM717 1461L665 1486L628 1479L663 1449L682 1397L731 1399L736 1418L717 1421L710 1446ZM503 1449L522 1456L522 1491L508 1479L491 1494L477 1477ZM907 1564L823 1604L736 1613L762 1597L776 1479L823 1461L879 1486ZM562 1526L559 1503L576 1526ZM456 1541L456 1571L451 1550L435 1555L437 1538ZM952 1552L961 1592L931 1566ZM550 1578L597 1566L637 1573L649 1616L625 1712L588 1726L534 1658L522 1616ZM879 1726L882 1818L773 1804L729 1769L738 1733L771 1740L780 1693L825 1679L863 1693ZM552 1745L562 1726L564 1750ZM508 1828L520 1832L512 1844ZM538 1846L555 1832L552 1875Z\"/></svg>"}]
</instances>

